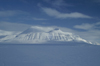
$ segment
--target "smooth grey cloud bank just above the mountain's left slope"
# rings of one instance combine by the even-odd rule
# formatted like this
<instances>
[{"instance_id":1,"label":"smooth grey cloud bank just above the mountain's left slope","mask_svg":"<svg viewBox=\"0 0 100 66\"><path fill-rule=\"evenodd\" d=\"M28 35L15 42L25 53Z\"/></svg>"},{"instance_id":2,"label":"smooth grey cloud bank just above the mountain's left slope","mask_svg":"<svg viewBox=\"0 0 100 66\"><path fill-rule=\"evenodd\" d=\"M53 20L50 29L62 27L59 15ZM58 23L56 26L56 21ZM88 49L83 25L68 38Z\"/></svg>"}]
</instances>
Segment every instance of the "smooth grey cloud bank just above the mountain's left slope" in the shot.
<instances>
[{"instance_id":1,"label":"smooth grey cloud bank just above the mountain's left slope","mask_svg":"<svg viewBox=\"0 0 100 66\"><path fill-rule=\"evenodd\" d=\"M32 25L22 24L22 23L12 23L12 22L0 22L0 30L7 31L23 31Z\"/></svg>"}]
</instances>

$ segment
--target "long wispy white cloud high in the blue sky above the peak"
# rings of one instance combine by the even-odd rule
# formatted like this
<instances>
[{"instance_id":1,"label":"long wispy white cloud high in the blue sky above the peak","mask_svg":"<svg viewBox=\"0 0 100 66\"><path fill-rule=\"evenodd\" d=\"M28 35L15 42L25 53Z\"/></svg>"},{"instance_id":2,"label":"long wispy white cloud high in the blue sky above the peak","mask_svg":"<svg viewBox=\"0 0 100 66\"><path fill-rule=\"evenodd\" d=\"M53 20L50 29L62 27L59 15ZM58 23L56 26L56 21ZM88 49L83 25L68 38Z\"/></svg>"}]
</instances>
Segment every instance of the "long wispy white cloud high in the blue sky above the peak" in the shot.
<instances>
[{"instance_id":1,"label":"long wispy white cloud high in the blue sky above the peak","mask_svg":"<svg viewBox=\"0 0 100 66\"><path fill-rule=\"evenodd\" d=\"M56 18L92 18L88 15L84 15L82 13L73 12L73 13L61 13L52 8L42 8L42 10L49 16L53 16Z\"/></svg>"}]
</instances>

